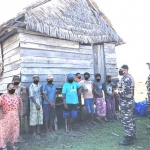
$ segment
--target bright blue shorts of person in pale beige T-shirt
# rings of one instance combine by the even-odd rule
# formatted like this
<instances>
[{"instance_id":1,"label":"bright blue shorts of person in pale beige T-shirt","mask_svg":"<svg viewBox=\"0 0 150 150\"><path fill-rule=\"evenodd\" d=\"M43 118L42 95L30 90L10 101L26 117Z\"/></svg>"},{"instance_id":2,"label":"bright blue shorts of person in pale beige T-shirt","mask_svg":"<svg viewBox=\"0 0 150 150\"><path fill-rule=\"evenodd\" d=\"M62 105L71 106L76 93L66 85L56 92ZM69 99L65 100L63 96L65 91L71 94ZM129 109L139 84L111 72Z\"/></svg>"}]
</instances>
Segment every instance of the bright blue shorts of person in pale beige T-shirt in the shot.
<instances>
[{"instance_id":1,"label":"bright blue shorts of person in pale beige T-shirt","mask_svg":"<svg viewBox=\"0 0 150 150\"><path fill-rule=\"evenodd\" d=\"M86 107L86 112L94 114L94 100L93 100L93 98L85 98L84 104Z\"/></svg>"}]
</instances>

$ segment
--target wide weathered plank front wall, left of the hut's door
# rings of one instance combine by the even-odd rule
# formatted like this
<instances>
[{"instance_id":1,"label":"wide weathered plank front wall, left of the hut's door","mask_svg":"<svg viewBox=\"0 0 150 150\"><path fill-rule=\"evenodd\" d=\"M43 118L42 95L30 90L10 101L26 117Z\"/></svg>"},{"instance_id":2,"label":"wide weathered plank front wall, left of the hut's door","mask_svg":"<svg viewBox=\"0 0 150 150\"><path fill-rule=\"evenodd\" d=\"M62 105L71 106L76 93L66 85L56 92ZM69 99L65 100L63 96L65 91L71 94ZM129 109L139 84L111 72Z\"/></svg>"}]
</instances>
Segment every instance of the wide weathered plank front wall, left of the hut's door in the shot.
<instances>
[{"instance_id":1,"label":"wide weathered plank front wall, left of the hut's door","mask_svg":"<svg viewBox=\"0 0 150 150\"><path fill-rule=\"evenodd\" d=\"M28 87L32 76L38 74L41 84L48 74L62 87L68 73L94 74L92 46L50 37L20 33L20 62L22 85Z\"/></svg>"}]
</instances>

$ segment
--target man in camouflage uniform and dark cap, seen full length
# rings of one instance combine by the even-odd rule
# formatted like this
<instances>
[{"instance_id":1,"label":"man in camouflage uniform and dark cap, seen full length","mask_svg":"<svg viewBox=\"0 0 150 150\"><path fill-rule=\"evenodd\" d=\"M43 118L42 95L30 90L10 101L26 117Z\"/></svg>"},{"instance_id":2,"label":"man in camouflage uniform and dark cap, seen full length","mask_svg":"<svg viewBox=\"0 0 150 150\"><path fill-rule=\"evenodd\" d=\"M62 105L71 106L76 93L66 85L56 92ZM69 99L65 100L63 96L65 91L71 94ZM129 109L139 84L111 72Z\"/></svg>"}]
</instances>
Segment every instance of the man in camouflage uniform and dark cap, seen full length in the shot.
<instances>
[{"instance_id":1,"label":"man in camouflage uniform and dark cap, seen full length","mask_svg":"<svg viewBox=\"0 0 150 150\"><path fill-rule=\"evenodd\" d=\"M134 108L134 79L128 74L128 66L123 65L119 70L119 75L123 76L119 82L119 100L121 108L121 121L125 128L125 140L120 145L130 145L134 143L136 135L136 125L133 118Z\"/></svg>"}]
</instances>

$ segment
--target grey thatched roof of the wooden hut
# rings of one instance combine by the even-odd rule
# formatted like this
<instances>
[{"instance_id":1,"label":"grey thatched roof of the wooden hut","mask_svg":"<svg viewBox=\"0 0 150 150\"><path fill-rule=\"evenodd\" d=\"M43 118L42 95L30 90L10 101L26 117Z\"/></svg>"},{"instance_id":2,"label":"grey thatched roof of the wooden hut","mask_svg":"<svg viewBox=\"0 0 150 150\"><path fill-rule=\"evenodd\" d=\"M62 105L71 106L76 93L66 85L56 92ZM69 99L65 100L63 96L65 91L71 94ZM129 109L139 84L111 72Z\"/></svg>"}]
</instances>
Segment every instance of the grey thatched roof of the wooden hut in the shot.
<instances>
[{"instance_id":1,"label":"grey thatched roof of the wooden hut","mask_svg":"<svg viewBox=\"0 0 150 150\"><path fill-rule=\"evenodd\" d=\"M0 38L9 32L10 27L81 43L123 43L93 0L42 0L2 24Z\"/></svg>"}]
</instances>

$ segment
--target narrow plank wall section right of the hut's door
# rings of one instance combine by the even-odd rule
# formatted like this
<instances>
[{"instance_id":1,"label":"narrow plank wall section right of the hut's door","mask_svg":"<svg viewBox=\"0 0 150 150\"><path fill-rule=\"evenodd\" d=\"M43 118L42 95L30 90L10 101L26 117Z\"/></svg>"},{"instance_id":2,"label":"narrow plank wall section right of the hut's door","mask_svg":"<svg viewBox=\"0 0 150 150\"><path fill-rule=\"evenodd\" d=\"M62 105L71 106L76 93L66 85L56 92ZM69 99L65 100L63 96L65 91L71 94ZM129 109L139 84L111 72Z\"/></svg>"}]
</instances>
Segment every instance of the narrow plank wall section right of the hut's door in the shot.
<instances>
[{"instance_id":1,"label":"narrow plank wall section right of the hut's door","mask_svg":"<svg viewBox=\"0 0 150 150\"><path fill-rule=\"evenodd\" d=\"M104 55L106 75L111 75L114 79L118 77L117 59L115 52L115 44L104 43Z\"/></svg>"}]
</instances>

